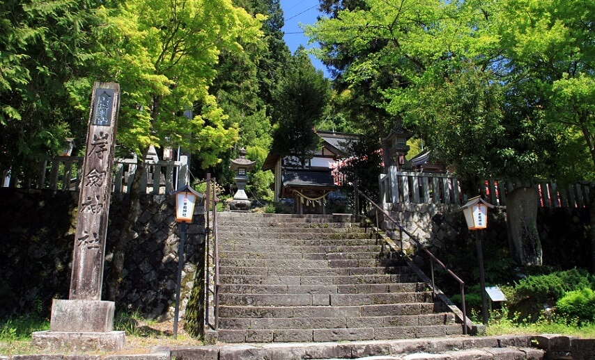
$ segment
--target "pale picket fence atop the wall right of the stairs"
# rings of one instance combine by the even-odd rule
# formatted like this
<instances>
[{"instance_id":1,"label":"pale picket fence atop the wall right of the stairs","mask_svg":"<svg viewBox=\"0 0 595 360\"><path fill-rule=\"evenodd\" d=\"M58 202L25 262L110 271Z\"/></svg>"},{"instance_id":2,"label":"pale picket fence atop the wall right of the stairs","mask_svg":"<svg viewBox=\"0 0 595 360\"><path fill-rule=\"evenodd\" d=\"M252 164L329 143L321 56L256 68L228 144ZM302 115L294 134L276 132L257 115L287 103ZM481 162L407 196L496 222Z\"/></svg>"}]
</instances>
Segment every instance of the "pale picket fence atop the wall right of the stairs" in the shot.
<instances>
[{"instance_id":1,"label":"pale picket fence atop the wall right of the stairs","mask_svg":"<svg viewBox=\"0 0 595 360\"><path fill-rule=\"evenodd\" d=\"M383 203L461 205L467 202L458 179L449 174L399 172L392 166L388 174L380 175L379 181L380 202ZM589 206L588 183L561 187L553 180L522 182L490 178L486 180L481 195L490 204L506 206L507 195L512 190L527 186L539 191L543 207Z\"/></svg>"}]
</instances>

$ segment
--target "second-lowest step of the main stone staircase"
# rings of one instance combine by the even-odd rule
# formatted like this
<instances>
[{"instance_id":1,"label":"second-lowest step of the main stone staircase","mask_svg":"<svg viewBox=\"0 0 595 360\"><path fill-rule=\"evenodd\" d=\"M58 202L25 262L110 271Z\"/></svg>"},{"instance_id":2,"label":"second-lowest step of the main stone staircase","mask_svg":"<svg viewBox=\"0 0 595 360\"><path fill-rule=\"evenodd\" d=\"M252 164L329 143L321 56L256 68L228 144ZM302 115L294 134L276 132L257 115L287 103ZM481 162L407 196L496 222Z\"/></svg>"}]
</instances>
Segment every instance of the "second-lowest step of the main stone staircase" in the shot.
<instances>
[{"instance_id":1,"label":"second-lowest step of the main stone staircase","mask_svg":"<svg viewBox=\"0 0 595 360\"><path fill-rule=\"evenodd\" d=\"M452 313L429 315L375 316L369 318L219 318L224 329L341 329L362 327L454 325Z\"/></svg>"}]
</instances>

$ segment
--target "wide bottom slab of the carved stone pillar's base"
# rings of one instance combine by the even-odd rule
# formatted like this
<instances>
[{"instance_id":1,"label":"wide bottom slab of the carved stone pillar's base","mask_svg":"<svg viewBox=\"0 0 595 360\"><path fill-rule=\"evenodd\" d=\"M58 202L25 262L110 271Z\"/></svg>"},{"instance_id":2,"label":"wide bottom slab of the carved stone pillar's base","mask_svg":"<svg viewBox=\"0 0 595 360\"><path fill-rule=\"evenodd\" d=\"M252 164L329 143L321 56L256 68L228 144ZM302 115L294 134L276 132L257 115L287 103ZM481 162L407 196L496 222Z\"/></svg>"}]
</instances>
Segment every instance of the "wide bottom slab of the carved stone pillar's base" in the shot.
<instances>
[{"instance_id":1,"label":"wide bottom slab of the carved stone pillar's base","mask_svg":"<svg viewBox=\"0 0 595 360\"><path fill-rule=\"evenodd\" d=\"M125 332L34 332L31 343L39 350L116 352L125 345Z\"/></svg>"}]
</instances>

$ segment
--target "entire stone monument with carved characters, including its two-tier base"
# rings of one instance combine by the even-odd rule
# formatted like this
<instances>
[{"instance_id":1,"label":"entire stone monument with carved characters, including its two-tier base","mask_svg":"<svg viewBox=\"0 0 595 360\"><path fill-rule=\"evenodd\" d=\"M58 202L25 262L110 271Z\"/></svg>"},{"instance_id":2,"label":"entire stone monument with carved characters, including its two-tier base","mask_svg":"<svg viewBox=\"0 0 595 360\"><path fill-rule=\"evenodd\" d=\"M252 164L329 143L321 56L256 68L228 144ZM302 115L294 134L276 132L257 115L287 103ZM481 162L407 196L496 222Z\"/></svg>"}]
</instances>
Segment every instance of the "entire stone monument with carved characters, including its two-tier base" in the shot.
<instances>
[{"instance_id":1,"label":"entire stone monument with carved characters, including its two-tier base","mask_svg":"<svg viewBox=\"0 0 595 360\"><path fill-rule=\"evenodd\" d=\"M116 146L120 85L93 84L86 154L68 300L54 300L49 332L34 332L33 345L115 351L125 332L114 332L114 302L101 300L111 169Z\"/></svg>"}]
</instances>

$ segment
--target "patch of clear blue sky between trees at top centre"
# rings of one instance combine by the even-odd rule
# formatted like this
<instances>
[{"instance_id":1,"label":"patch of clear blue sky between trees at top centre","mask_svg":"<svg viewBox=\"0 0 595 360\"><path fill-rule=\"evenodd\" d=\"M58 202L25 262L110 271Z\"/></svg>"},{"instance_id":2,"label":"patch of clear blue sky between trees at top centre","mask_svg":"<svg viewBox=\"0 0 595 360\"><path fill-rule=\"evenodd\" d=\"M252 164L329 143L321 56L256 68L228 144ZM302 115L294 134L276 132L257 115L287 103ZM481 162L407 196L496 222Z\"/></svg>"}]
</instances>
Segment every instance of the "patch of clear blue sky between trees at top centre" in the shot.
<instances>
[{"instance_id":1,"label":"patch of clear blue sky between trees at top centre","mask_svg":"<svg viewBox=\"0 0 595 360\"><path fill-rule=\"evenodd\" d=\"M285 16L284 39L291 53L300 46L304 45L307 49L317 47L318 44L308 44L308 38L298 24L314 24L318 17L318 0L281 0L281 8ZM310 56L316 69L321 69L329 77L325 65L320 60Z\"/></svg>"}]
</instances>

